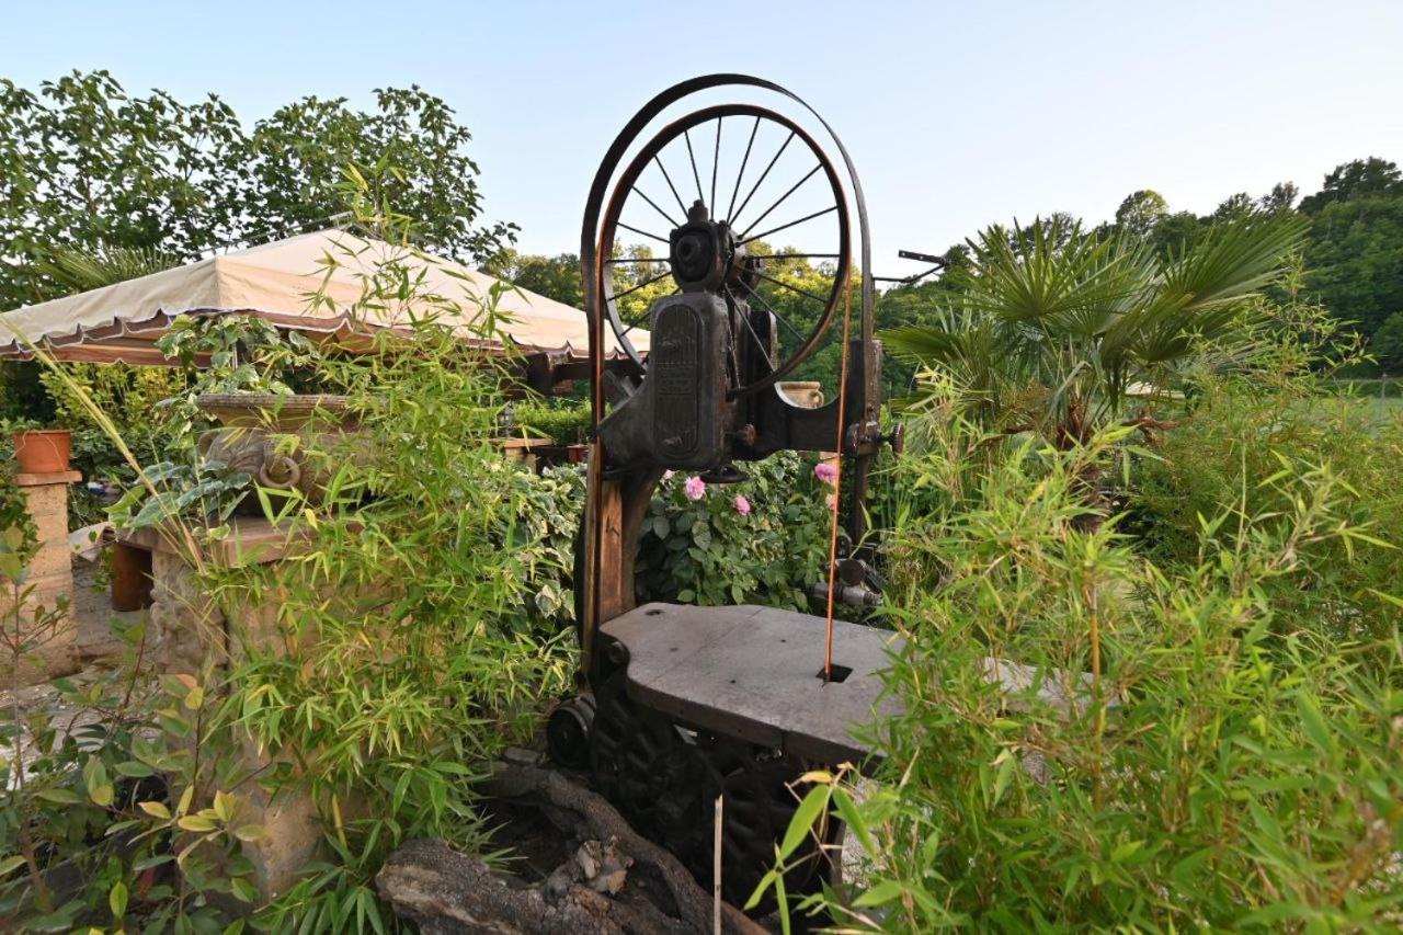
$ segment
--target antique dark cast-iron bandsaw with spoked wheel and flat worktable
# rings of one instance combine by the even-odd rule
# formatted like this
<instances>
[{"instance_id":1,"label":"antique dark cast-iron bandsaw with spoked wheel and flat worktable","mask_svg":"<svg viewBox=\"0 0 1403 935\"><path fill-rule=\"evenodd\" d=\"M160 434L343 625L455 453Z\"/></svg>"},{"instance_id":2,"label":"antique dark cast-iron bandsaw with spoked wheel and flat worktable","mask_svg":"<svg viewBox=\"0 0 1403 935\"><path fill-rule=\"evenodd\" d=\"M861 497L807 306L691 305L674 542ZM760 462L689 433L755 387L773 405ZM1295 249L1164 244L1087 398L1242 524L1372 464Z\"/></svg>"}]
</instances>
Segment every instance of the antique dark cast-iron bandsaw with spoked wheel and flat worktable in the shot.
<instances>
[{"instance_id":1,"label":"antique dark cast-iron bandsaw with spoked wheel and flat worktable","mask_svg":"<svg viewBox=\"0 0 1403 935\"><path fill-rule=\"evenodd\" d=\"M683 110L720 90L774 104ZM759 248L800 234L821 250ZM627 246L637 239L665 257ZM803 285L773 275L796 260L822 265ZM890 703L874 674L892 635L833 619L835 604L880 599L863 494L880 446L901 441L878 423L868 261L861 185L838 136L794 94L742 74L652 98L609 147L585 209L595 441L575 576L584 691L551 715L547 737L556 760L586 768L703 879L721 796L723 891L737 904L773 863L797 804L788 783L814 765L866 761L853 727ZM648 288L647 307L626 302ZM839 362L836 397L797 406L783 382L818 352ZM840 455L831 567L812 590L824 614L636 606L641 525L665 472L727 484L784 449ZM838 835L829 823L828 841ZM807 855L790 891L832 872L817 842Z\"/></svg>"}]
</instances>

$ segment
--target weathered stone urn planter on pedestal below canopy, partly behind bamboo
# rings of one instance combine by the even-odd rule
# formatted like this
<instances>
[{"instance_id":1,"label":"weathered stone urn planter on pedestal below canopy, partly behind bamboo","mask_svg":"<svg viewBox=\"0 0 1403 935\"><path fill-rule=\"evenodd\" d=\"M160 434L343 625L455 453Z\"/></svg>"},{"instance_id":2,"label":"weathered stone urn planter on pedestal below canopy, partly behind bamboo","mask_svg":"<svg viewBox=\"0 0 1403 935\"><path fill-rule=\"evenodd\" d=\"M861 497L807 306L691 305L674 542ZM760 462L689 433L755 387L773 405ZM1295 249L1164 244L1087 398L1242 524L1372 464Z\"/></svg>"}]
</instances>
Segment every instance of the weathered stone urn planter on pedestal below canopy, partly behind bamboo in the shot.
<instances>
[{"instance_id":1,"label":"weathered stone urn planter on pedestal below canopy, partly behind bamboo","mask_svg":"<svg viewBox=\"0 0 1403 935\"><path fill-rule=\"evenodd\" d=\"M313 505L325 493L331 470L310 452L347 444L359 420L345 396L206 393L195 400L220 427L196 442L220 473L248 475L258 486L297 491ZM248 504L260 512L257 503Z\"/></svg>"}]
</instances>

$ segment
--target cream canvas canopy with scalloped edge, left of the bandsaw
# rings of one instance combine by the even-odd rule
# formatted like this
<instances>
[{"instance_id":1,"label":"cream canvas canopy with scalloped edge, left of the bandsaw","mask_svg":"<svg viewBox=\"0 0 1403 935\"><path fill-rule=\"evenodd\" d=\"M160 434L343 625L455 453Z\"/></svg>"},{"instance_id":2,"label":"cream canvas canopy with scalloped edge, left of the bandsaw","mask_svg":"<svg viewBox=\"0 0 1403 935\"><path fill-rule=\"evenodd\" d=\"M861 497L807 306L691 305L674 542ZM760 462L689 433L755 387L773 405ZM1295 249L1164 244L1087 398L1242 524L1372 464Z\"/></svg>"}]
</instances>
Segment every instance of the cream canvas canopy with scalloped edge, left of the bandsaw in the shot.
<instances>
[{"instance_id":1,"label":"cream canvas canopy with scalloped edge, left of the bandsaw","mask_svg":"<svg viewBox=\"0 0 1403 935\"><path fill-rule=\"evenodd\" d=\"M28 345L35 344L60 361L170 364L154 341L181 314L254 314L338 340L404 326L410 314L432 309L354 309L365 277L387 258L414 274L422 271L418 288L460 305L464 338L474 336L469 323L497 279L452 260L414 257L382 240L318 230L6 312L0 314L0 357L31 357ZM318 292L324 300L314 305L310 299ZM506 289L497 312L505 316L497 330L523 351L577 359L589 352L589 327L579 309ZM615 355L617 344L605 331ZM638 347L640 338L633 340ZM640 350L647 347L647 334L641 340Z\"/></svg>"}]
</instances>

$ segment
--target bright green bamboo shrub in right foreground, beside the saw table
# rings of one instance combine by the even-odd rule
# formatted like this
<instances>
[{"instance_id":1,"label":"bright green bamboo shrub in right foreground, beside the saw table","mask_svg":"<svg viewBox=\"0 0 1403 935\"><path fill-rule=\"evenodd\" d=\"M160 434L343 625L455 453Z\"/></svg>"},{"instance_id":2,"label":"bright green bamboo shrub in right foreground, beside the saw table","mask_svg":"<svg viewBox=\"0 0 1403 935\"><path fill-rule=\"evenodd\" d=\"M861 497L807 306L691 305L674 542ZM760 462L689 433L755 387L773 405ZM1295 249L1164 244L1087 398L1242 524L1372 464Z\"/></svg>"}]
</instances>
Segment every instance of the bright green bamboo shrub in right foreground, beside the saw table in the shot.
<instances>
[{"instance_id":1,"label":"bright green bamboo shrub in right foreground, beside the saw table","mask_svg":"<svg viewBox=\"0 0 1403 935\"><path fill-rule=\"evenodd\" d=\"M807 813L836 806L866 868L796 911L904 932L1403 918L1399 643L1333 640L1281 599L1336 560L1319 546L1360 545L1354 493L1288 459L1266 484L1281 511L1209 514L1200 560L1162 567L1078 521L1110 442L911 468L950 507L906 515L895 548L940 585L899 614L878 781L859 802L829 776Z\"/></svg>"}]
</instances>

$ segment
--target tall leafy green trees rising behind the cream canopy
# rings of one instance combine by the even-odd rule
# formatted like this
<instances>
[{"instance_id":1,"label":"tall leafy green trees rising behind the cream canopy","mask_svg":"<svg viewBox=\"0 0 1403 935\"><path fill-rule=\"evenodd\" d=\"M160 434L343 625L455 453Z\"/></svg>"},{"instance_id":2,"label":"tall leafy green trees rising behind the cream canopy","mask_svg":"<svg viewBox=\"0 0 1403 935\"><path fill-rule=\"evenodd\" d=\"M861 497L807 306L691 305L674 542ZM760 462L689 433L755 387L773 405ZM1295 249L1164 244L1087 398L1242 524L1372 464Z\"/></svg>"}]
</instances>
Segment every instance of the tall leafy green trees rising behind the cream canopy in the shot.
<instances>
[{"instance_id":1,"label":"tall leafy green trees rising behind the cream canopy","mask_svg":"<svg viewBox=\"0 0 1403 935\"><path fill-rule=\"evenodd\" d=\"M400 209L429 219L439 251L485 260L515 226L477 226L471 139L439 98L376 93L370 111L304 98L246 131L217 95L130 97L107 72L38 93L0 80L0 307L65 295L55 251L159 250L191 260L220 244L328 225L348 164Z\"/></svg>"}]
</instances>

